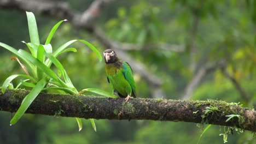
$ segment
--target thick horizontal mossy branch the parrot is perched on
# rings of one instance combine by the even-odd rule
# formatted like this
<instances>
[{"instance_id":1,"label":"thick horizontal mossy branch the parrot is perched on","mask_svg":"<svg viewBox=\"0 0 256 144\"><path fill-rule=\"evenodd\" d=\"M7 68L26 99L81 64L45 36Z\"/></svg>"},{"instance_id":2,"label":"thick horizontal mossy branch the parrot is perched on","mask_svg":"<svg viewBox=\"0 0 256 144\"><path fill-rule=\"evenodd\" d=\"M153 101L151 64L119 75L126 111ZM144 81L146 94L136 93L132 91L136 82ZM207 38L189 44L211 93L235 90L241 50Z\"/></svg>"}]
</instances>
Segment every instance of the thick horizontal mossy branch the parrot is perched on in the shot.
<instances>
[{"instance_id":1,"label":"thick horizontal mossy branch the parrot is perched on","mask_svg":"<svg viewBox=\"0 0 256 144\"><path fill-rule=\"evenodd\" d=\"M15 112L28 92L21 89L8 89L4 94L0 93L0 110ZM211 111L209 107L214 110ZM95 119L148 119L209 123L256 132L256 111L216 100L133 98L125 103L123 98L40 93L26 113ZM240 115L242 119L234 117L225 122L228 119L227 115Z\"/></svg>"}]
</instances>

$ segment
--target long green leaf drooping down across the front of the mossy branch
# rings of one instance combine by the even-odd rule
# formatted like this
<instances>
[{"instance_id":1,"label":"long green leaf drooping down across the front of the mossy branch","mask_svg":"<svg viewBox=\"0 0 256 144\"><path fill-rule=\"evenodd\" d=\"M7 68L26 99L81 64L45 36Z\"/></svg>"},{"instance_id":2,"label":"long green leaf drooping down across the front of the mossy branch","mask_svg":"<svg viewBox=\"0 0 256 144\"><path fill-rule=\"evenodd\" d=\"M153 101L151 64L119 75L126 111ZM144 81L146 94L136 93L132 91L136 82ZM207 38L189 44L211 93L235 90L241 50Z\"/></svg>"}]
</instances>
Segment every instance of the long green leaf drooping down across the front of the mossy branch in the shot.
<instances>
[{"instance_id":1,"label":"long green leaf drooping down across the front of the mossy branch","mask_svg":"<svg viewBox=\"0 0 256 144\"><path fill-rule=\"evenodd\" d=\"M23 99L21 106L19 107L18 111L15 113L14 117L11 119L10 124L15 124L19 121L21 116L25 113L27 108L31 105L33 100L37 97L37 95L42 91L42 89L47 84L46 77L40 80L37 85L26 95Z\"/></svg>"}]
</instances>

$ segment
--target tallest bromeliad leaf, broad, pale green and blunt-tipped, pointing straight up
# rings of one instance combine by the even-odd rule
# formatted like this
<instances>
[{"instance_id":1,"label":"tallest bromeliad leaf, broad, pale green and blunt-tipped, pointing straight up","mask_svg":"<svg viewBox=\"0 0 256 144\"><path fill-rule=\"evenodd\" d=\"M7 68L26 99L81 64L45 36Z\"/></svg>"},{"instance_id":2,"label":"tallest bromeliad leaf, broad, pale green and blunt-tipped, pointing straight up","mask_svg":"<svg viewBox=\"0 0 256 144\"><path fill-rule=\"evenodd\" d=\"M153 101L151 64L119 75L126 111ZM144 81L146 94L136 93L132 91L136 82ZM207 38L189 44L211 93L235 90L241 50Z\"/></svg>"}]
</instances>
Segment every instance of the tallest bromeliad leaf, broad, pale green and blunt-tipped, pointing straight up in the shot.
<instances>
[{"instance_id":1,"label":"tallest bromeliad leaf, broad, pale green and blunt-tipped, pointing straight up","mask_svg":"<svg viewBox=\"0 0 256 144\"><path fill-rule=\"evenodd\" d=\"M39 35L37 30L37 22L34 14L32 12L27 12L27 23L28 23L28 31L30 32L30 41L33 44L39 45Z\"/></svg>"}]
</instances>

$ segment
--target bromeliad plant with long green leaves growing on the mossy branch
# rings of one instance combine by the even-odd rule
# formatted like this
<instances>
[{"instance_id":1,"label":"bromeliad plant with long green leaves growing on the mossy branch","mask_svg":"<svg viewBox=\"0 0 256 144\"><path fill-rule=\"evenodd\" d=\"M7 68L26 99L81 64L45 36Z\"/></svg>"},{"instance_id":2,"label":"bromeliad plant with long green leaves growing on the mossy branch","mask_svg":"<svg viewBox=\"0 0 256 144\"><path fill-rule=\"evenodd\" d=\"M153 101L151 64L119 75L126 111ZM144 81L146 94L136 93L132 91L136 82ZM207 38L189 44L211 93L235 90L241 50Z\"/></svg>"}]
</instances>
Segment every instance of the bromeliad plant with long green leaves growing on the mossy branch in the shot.
<instances>
[{"instance_id":1,"label":"bromeliad plant with long green leaves growing on the mossy branch","mask_svg":"<svg viewBox=\"0 0 256 144\"><path fill-rule=\"evenodd\" d=\"M22 69L26 73L9 76L3 83L2 93L5 92L7 87L14 88L11 84L11 81L13 81L17 77L22 77L25 80L21 80L21 82L18 86L16 86L16 88L19 88L21 85L32 88L30 93L28 93L22 101L21 106L15 113L14 117L11 119L10 124L15 124L16 122L18 122L18 120L25 113L25 111L28 109L28 107L31 105L32 101L37 97L37 95L46 89L57 89L58 91L65 92L68 94L79 94L79 92L73 86L71 80L69 79L66 70L63 68L62 64L57 59L57 56L59 56L61 53L67 51L77 51L77 49L73 47L68 47L69 45L71 45L75 41L80 41L81 43L84 43L85 45L90 47L90 49L97 54L100 61L102 61L100 52L98 52L98 50L93 45L91 45L90 43L88 43L88 41L85 40L68 41L67 43L61 45L59 48L53 51L53 47L50 44L51 38L53 38L56 29L61 25L61 23L67 20L62 20L58 22L51 29L48 38L45 41L45 44L40 44L36 19L33 13L26 12L26 14L31 42L25 43L25 41L22 41L22 43L25 43L27 45L28 49L30 50L30 53L22 49L16 50L9 45L0 43L0 46L4 47L5 49L9 50L17 56L12 59L18 61ZM57 68L57 74L52 69L50 69L52 64L54 64ZM103 95L108 95L108 93L99 91L98 89L84 89L82 92L86 91L91 91L100 94L103 93ZM111 97L111 95L109 97ZM82 130L81 119L76 119L78 122L79 130ZM94 119L90 119L90 121L92 127L96 131Z\"/></svg>"}]
</instances>

